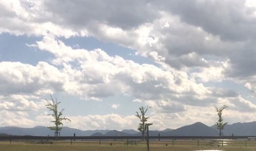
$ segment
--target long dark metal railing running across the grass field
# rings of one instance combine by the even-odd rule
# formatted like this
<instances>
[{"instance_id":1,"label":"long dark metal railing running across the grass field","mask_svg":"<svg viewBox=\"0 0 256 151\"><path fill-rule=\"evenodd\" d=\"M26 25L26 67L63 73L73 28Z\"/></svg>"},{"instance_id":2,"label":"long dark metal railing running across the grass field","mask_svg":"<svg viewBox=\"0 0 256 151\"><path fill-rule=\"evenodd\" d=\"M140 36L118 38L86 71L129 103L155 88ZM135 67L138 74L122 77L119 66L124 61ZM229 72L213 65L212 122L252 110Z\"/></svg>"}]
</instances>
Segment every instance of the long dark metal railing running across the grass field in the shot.
<instances>
[{"instance_id":1,"label":"long dark metal railing running across the grass field","mask_svg":"<svg viewBox=\"0 0 256 151\"><path fill-rule=\"evenodd\" d=\"M182 145L198 147L256 147L255 136L149 136L150 145ZM94 145L146 145L141 136L0 136L0 142L29 142L36 144L94 144Z\"/></svg>"}]
</instances>

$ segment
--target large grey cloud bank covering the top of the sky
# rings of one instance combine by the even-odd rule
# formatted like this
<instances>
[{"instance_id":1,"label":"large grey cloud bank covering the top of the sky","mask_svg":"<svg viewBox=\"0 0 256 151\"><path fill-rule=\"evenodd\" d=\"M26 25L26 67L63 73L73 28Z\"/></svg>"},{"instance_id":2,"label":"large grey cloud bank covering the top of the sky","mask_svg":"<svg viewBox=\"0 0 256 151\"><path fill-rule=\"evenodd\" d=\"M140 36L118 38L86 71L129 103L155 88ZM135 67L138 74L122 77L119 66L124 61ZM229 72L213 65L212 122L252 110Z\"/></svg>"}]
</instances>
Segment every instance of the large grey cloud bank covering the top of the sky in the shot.
<instances>
[{"instance_id":1,"label":"large grey cloud bank covering the top of the sky","mask_svg":"<svg viewBox=\"0 0 256 151\"><path fill-rule=\"evenodd\" d=\"M63 7L55 7L60 6L60 3ZM41 33L46 36L64 37L84 36L82 33L87 33L85 35L93 35L103 41L112 41L119 45L135 48L138 50L138 54L152 57L156 62L162 62L176 69L208 67L210 64L203 60L205 56L229 58L232 69L234 69L241 67L241 63L237 63L238 58L231 53L232 50L235 48L236 51L244 52L245 45L242 40L252 38L255 34L250 32L254 31L252 30L254 18L253 15L250 15L253 12L252 5L249 2L241 1L232 2L232 5L230 3L230 1L211 3L191 1L184 5L184 2L180 1L157 3L134 1L125 4L127 6L125 9L119 10L121 7L116 6L123 5L120 2L113 2L115 7L110 7L112 5L106 4L104 1L80 2L79 4L69 1L64 3L62 1L54 3L15 1L14 5L2 2L1 6L5 12L2 19L9 22L19 21L21 23L15 24L24 24L28 29L19 29L17 26L13 27L15 28L13 30L9 26L2 25L2 32L13 32L18 35ZM222 12L220 13L222 15L220 16L218 13L212 15L212 11L210 11L212 8ZM126 9L132 11L124 11ZM140 13L136 13L138 11ZM236 13L228 13L229 11ZM191 17L191 14L195 16ZM129 16L129 19L123 18L123 15ZM208 17L209 15L211 17ZM121 18L122 21L120 21ZM129 21L129 23L125 23L125 21ZM238 24L239 22L241 24ZM218 26L215 25L216 23ZM233 28L229 28L230 26ZM39 31L34 31L34 29ZM230 43L228 40L234 42ZM250 45L253 44L248 41L246 46ZM153 54L157 54L157 56ZM212 61L214 62L214 60ZM245 65L252 63L251 58L245 62ZM239 70L230 70L230 72L237 71ZM246 71L240 72L240 74L249 74Z\"/></svg>"}]
</instances>

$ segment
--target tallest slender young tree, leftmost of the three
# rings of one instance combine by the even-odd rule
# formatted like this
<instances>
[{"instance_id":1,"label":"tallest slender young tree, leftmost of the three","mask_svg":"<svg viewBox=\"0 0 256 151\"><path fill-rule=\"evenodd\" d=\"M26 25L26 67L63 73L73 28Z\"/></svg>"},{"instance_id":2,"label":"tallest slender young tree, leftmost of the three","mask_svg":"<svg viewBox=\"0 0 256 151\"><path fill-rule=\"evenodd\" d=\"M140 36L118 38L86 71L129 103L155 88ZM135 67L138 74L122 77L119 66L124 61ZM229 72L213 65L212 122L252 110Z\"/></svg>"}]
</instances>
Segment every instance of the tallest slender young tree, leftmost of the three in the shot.
<instances>
[{"instance_id":1,"label":"tallest slender young tree, leftmost of the three","mask_svg":"<svg viewBox=\"0 0 256 151\"><path fill-rule=\"evenodd\" d=\"M63 125L62 123L63 120L70 121L70 119L66 117L61 117L63 115L62 112L64 111L64 109L61 109L60 112L58 111L58 104L60 104L61 102L57 102L57 98L55 98L55 101L54 101L53 97L51 97L51 101L48 101L47 99L46 101L47 101L46 107L49 109L49 111L53 112L53 114L48 114L47 116L52 116L54 120L51 122L55 124L55 127L47 127L47 128L54 130L55 137L58 138L59 131L62 129L62 127L59 127L59 125Z\"/></svg>"}]
</instances>

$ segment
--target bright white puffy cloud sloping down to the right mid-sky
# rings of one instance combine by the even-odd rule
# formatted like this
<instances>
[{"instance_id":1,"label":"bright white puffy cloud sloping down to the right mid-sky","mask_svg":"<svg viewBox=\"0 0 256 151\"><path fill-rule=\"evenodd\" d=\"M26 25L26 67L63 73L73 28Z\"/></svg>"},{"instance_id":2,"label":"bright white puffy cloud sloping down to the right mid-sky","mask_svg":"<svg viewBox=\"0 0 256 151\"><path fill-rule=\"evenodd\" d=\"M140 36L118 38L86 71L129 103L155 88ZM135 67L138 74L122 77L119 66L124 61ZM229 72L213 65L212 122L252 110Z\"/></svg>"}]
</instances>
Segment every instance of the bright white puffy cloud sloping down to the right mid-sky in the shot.
<instances>
[{"instance_id":1,"label":"bright white puffy cloud sloping down to the right mid-sky","mask_svg":"<svg viewBox=\"0 0 256 151\"><path fill-rule=\"evenodd\" d=\"M87 96L85 99L117 93L129 93L138 99L159 99L173 92L192 93L198 97L209 94L207 88L188 80L188 75L182 71L171 74L154 65L139 65L119 56L108 56L100 49L74 50L51 37L44 37L37 43L38 48L55 54L57 60L54 59L54 63L60 65L62 62L61 73L68 78L64 89L70 94ZM79 68L68 65L70 62L77 62Z\"/></svg>"}]
</instances>

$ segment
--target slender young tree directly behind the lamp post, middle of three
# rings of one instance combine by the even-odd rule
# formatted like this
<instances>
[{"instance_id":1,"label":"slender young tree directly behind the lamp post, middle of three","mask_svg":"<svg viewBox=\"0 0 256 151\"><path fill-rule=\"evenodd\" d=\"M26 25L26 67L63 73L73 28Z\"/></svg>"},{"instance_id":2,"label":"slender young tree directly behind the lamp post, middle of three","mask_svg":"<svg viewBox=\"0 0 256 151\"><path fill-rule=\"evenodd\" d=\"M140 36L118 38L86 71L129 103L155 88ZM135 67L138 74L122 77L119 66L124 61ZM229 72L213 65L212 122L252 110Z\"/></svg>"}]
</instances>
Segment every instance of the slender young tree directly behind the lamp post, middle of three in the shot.
<instances>
[{"instance_id":1,"label":"slender young tree directly behind the lamp post, middle of three","mask_svg":"<svg viewBox=\"0 0 256 151\"><path fill-rule=\"evenodd\" d=\"M142 138L144 138L145 130L147 129L147 125L145 124L145 122L148 121L148 118L149 118L149 117L145 117L145 114L148 111L148 106L147 107L141 106L139 109L140 109L141 115L138 114L138 112L136 112L137 115L135 116L137 116L140 119L141 123L139 123L138 125L138 130L142 133Z\"/></svg>"}]
</instances>

